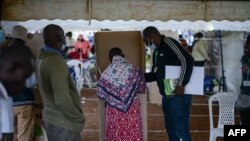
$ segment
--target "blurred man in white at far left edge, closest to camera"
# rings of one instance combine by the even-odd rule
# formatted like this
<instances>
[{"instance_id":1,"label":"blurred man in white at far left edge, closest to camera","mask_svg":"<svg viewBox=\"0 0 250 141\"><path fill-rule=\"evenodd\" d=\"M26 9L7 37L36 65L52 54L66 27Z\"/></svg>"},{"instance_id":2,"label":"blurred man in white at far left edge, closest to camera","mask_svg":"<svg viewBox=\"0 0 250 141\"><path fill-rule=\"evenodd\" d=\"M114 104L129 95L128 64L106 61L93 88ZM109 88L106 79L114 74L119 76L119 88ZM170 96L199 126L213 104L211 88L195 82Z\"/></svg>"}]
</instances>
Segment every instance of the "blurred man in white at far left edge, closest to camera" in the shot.
<instances>
[{"instance_id":1,"label":"blurred man in white at far left edge, closest to camera","mask_svg":"<svg viewBox=\"0 0 250 141\"><path fill-rule=\"evenodd\" d=\"M24 88L25 80L34 72L34 62L31 50L22 44L12 44L0 50L0 134L3 134L1 141L13 141L12 97L19 95ZM29 116L29 113L26 113L26 117Z\"/></svg>"}]
</instances>

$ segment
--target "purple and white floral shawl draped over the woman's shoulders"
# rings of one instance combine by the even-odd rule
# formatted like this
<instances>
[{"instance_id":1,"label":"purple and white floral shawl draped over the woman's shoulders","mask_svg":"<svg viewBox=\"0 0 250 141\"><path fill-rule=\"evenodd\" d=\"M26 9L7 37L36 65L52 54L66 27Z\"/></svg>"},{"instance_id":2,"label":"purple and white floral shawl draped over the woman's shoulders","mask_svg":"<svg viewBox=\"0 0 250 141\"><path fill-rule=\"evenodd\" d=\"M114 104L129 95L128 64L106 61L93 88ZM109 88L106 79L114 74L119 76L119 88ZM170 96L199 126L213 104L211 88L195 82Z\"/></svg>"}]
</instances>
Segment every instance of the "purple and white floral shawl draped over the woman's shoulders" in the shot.
<instances>
[{"instance_id":1,"label":"purple and white floral shawl draped over the woman's shoulders","mask_svg":"<svg viewBox=\"0 0 250 141\"><path fill-rule=\"evenodd\" d=\"M111 107L127 112L143 78L139 68L129 64L125 58L115 56L97 83L97 95Z\"/></svg>"}]
</instances>

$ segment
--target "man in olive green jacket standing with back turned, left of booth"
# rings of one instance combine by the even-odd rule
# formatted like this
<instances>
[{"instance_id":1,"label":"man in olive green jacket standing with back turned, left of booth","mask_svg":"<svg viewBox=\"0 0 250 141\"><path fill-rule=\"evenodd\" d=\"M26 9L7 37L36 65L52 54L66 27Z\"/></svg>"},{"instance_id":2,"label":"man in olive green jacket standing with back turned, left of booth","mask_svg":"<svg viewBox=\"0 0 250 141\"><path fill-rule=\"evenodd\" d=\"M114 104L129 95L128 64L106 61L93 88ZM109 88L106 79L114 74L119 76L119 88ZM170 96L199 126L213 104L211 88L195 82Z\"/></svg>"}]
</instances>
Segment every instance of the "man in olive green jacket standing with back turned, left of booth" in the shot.
<instances>
[{"instance_id":1,"label":"man in olive green jacket standing with back turned, left of booth","mask_svg":"<svg viewBox=\"0 0 250 141\"><path fill-rule=\"evenodd\" d=\"M80 96L60 51L63 29L55 24L43 29L44 47L37 60L37 79L44 103L43 122L48 141L81 141L84 126Z\"/></svg>"}]
</instances>

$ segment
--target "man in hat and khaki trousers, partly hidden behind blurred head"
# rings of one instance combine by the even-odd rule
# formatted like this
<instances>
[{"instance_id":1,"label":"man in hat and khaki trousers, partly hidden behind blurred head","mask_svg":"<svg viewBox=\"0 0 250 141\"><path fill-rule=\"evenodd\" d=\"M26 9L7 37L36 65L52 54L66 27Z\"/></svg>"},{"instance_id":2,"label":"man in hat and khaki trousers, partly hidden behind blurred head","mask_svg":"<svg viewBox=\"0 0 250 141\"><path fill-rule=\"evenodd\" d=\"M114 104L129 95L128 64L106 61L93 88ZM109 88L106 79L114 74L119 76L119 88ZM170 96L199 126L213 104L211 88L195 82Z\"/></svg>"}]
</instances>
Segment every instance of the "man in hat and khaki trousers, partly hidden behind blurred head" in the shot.
<instances>
[{"instance_id":1,"label":"man in hat and khaki trousers, partly hidden behind blurred head","mask_svg":"<svg viewBox=\"0 0 250 141\"><path fill-rule=\"evenodd\" d=\"M24 46L28 50L31 49L25 45L26 41L30 39L32 34L20 25L12 28L11 34L8 35L9 43L3 48L12 46ZM26 85L23 86L18 95L12 97L14 105L14 120L15 120L15 138L14 141L32 141L34 139L35 129L35 111L33 94L36 85L35 72L26 79Z\"/></svg>"}]
</instances>

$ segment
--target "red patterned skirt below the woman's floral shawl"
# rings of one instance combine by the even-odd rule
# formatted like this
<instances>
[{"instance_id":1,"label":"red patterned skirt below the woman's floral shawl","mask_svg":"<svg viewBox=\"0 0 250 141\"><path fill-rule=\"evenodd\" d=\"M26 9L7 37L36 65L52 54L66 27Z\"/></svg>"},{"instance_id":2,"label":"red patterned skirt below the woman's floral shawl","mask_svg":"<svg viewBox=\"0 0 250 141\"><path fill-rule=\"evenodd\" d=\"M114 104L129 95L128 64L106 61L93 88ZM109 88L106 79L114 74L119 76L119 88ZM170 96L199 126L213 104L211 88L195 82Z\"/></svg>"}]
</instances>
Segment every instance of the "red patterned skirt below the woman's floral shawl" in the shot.
<instances>
[{"instance_id":1,"label":"red patterned skirt below the woman's floral shawl","mask_svg":"<svg viewBox=\"0 0 250 141\"><path fill-rule=\"evenodd\" d=\"M106 141L143 141L139 98L134 98L126 113L107 105L105 130Z\"/></svg>"}]
</instances>

